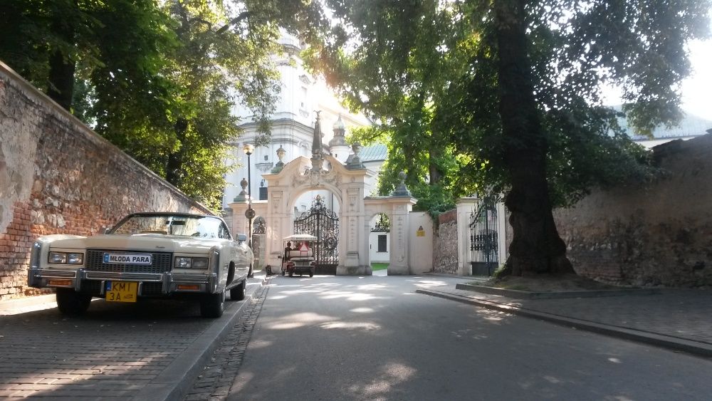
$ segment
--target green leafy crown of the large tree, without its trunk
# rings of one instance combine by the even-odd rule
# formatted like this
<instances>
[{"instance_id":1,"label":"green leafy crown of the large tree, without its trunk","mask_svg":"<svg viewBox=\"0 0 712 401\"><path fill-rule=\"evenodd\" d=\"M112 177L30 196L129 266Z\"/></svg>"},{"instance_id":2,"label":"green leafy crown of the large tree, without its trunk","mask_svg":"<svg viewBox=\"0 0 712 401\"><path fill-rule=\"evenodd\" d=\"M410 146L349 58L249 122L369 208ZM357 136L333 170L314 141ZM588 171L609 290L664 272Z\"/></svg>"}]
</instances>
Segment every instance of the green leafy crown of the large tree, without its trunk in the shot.
<instances>
[{"instance_id":1,"label":"green leafy crown of the large tree, without its trunk","mask_svg":"<svg viewBox=\"0 0 712 401\"><path fill-rule=\"evenodd\" d=\"M327 4L338 24L308 61L352 108L379 122L357 135L389 145L379 192L394 188L399 170L408 173L419 207L435 211L462 195L507 192L504 150L525 145L528 132L517 143L502 135L492 5ZM614 110L600 105L600 87L622 85L636 132L676 123L676 88L689 73L684 43L708 35L709 8L708 0L528 3L528 57L554 204L654 175L647 152L620 130Z\"/></svg>"}]
</instances>

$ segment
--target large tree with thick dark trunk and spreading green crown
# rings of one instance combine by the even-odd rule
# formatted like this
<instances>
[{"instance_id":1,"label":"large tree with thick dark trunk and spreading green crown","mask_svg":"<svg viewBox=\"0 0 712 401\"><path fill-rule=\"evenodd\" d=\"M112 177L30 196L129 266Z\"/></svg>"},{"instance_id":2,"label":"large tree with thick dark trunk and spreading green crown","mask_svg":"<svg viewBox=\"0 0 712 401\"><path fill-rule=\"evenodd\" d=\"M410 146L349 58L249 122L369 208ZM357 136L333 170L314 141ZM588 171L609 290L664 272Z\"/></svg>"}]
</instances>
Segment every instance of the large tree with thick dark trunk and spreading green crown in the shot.
<instances>
[{"instance_id":1,"label":"large tree with thick dark trunk and spreading green crown","mask_svg":"<svg viewBox=\"0 0 712 401\"><path fill-rule=\"evenodd\" d=\"M512 274L571 271L555 204L649 177L645 152L602 107L601 85L622 87L639 132L675 123L685 43L708 35L710 9L706 0L328 4L340 24L313 49L315 68L379 131L426 127L405 140L451 149L468 177L458 188L506 193Z\"/></svg>"}]
</instances>

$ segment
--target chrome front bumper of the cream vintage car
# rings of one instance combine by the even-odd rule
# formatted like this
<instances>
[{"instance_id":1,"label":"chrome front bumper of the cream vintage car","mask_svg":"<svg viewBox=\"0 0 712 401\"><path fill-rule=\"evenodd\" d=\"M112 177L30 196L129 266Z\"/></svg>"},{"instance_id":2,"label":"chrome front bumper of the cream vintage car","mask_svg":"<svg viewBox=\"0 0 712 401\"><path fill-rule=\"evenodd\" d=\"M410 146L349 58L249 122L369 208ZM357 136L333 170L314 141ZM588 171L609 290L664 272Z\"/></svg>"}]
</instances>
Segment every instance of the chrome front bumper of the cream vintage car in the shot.
<instances>
[{"instance_id":1,"label":"chrome front bumper of the cream vintage car","mask_svg":"<svg viewBox=\"0 0 712 401\"><path fill-rule=\"evenodd\" d=\"M214 293L217 289L217 274L195 273L120 273L112 271L29 269L28 286L35 288L74 288L82 291L91 282L100 282L100 294L104 293L106 281L134 281L139 283L139 296L143 283L161 283L161 294L171 293ZM155 294L152 294L155 295Z\"/></svg>"}]
</instances>

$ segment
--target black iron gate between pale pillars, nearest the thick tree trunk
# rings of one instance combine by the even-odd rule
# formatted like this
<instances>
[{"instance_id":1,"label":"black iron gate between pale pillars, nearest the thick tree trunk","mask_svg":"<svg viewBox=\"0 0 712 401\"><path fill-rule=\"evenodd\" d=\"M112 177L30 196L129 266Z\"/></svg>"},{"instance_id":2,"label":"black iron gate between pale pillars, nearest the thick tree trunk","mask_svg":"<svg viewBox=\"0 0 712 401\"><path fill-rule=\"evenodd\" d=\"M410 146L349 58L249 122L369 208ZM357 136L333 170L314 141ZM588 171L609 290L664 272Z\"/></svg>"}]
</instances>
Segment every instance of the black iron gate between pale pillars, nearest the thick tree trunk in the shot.
<instances>
[{"instance_id":1,"label":"black iron gate between pale pillars, nearest the thick tree trunk","mask_svg":"<svg viewBox=\"0 0 712 401\"><path fill-rule=\"evenodd\" d=\"M497 241L497 208L485 200L477 212L470 214L470 251L472 275L491 276L499 266Z\"/></svg>"}]
</instances>

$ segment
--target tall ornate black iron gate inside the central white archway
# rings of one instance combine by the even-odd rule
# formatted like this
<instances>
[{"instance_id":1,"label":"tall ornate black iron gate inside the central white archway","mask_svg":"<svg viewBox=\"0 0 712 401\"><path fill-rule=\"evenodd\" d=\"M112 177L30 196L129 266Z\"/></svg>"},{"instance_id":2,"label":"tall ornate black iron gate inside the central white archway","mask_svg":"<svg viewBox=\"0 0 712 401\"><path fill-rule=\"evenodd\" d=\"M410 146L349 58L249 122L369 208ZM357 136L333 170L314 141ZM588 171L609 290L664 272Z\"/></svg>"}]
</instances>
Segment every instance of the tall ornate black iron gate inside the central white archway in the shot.
<instances>
[{"instance_id":1,"label":"tall ornate black iron gate inside the central white archway","mask_svg":"<svg viewBox=\"0 0 712 401\"><path fill-rule=\"evenodd\" d=\"M339 264L339 218L327 209L320 195L312 207L294 220L294 234L310 234L317 237L314 246L316 274L336 274Z\"/></svg>"}]
</instances>

